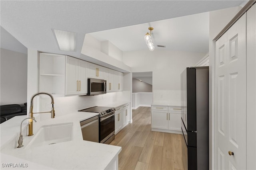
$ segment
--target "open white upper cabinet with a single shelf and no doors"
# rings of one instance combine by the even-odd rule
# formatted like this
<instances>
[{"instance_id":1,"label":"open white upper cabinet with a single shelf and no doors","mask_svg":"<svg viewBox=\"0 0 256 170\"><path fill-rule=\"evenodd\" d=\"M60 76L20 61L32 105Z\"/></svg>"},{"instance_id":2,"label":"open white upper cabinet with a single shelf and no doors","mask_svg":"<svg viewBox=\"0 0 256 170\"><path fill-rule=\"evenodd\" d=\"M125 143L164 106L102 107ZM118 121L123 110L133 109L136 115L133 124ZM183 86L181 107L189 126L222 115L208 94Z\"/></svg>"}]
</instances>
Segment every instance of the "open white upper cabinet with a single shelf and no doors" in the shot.
<instances>
[{"instance_id":1,"label":"open white upper cabinet with a single shelf and no doors","mask_svg":"<svg viewBox=\"0 0 256 170\"><path fill-rule=\"evenodd\" d=\"M39 53L39 91L65 96L65 55Z\"/></svg>"}]
</instances>

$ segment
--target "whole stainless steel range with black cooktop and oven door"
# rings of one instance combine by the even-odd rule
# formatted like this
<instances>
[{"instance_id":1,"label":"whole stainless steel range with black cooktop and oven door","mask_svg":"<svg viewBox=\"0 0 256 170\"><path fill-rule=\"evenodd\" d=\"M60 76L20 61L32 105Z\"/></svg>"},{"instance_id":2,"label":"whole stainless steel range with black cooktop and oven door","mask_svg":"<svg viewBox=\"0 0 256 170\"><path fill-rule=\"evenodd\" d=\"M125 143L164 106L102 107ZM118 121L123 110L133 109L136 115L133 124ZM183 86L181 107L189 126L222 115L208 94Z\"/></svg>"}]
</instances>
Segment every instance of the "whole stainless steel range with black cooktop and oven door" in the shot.
<instances>
[{"instance_id":1,"label":"whole stainless steel range with black cooktop and oven door","mask_svg":"<svg viewBox=\"0 0 256 170\"><path fill-rule=\"evenodd\" d=\"M99 113L99 142L109 144L115 139L115 111L114 107L94 106L78 111Z\"/></svg>"}]
</instances>

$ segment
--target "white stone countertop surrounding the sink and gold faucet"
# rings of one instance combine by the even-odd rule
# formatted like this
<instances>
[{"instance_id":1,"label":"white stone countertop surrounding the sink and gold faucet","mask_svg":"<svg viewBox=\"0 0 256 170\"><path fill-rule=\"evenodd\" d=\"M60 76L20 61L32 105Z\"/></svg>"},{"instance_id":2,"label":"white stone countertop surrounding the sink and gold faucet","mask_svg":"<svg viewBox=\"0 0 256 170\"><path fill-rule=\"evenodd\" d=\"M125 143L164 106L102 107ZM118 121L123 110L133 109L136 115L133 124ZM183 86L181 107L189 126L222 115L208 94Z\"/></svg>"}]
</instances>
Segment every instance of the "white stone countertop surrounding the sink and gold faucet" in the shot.
<instances>
[{"instance_id":1,"label":"white stone countertop surrounding the sink and gold faucet","mask_svg":"<svg viewBox=\"0 0 256 170\"><path fill-rule=\"evenodd\" d=\"M125 104L125 103L123 103ZM34 122L34 134L42 125L73 123L73 140L54 145L26 148L33 136L28 137L28 122L22 123L23 145L18 146L20 122L26 118L16 116L2 123L1 128L1 169L3 163L27 163L22 169L104 169L121 152L121 147L83 141L80 121L94 117L98 113L74 111L54 119ZM19 168L12 168L19 169Z\"/></svg>"}]
</instances>

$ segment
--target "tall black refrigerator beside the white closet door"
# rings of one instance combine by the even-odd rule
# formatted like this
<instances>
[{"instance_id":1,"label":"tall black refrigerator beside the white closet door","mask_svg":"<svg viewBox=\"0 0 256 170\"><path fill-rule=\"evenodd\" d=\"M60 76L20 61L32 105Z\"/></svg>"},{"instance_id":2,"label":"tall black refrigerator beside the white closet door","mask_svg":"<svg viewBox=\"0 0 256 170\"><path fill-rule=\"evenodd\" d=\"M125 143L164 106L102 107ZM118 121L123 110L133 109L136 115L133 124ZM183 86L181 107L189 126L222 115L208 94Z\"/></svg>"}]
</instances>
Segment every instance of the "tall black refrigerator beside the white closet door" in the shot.
<instances>
[{"instance_id":1,"label":"tall black refrigerator beside the white closet door","mask_svg":"<svg viewBox=\"0 0 256 170\"><path fill-rule=\"evenodd\" d=\"M182 159L184 170L209 169L209 67L181 74Z\"/></svg>"}]
</instances>

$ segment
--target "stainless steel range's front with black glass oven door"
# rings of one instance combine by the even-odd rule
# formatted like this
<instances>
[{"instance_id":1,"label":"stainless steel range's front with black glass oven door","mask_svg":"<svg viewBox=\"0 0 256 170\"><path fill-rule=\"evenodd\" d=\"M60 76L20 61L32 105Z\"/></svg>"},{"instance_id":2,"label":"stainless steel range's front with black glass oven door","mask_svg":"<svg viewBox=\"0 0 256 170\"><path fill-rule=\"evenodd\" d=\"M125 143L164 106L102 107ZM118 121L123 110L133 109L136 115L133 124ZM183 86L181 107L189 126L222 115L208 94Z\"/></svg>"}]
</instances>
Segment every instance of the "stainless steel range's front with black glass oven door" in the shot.
<instances>
[{"instance_id":1,"label":"stainless steel range's front with black glass oven door","mask_svg":"<svg viewBox=\"0 0 256 170\"><path fill-rule=\"evenodd\" d=\"M115 135L115 112L100 118L100 143L110 143Z\"/></svg>"}]
</instances>

